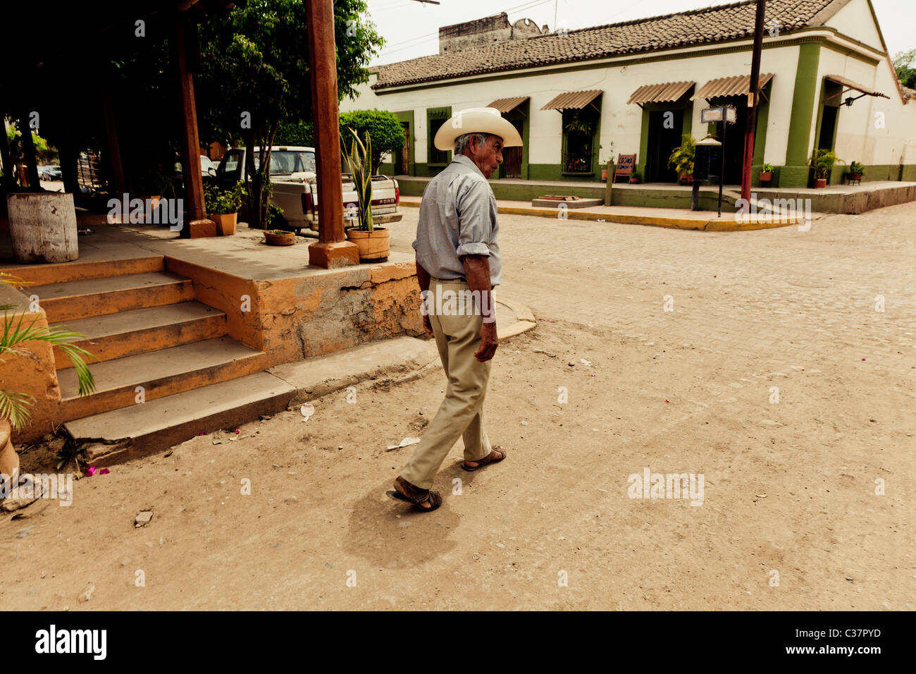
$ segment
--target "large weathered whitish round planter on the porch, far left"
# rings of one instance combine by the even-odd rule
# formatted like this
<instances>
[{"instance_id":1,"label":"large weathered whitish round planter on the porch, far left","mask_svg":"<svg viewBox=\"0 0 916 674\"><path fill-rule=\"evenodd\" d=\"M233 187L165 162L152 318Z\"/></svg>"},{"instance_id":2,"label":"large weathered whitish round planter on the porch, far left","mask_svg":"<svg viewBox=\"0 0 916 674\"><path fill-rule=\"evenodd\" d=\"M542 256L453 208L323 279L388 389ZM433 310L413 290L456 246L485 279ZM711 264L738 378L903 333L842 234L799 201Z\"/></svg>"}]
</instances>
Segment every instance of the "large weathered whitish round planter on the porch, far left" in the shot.
<instances>
[{"instance_id":1,"label":"large weathered whitish round planter on the porch, far left","mask_svg":"<svg viewBox=\"0 0 916 674\"><path fill-rule=\"evenodd\" d=\"M80 257L71 193L11 193L6 208L16 262L69 262Z\"/></svg>"}]
</instances>

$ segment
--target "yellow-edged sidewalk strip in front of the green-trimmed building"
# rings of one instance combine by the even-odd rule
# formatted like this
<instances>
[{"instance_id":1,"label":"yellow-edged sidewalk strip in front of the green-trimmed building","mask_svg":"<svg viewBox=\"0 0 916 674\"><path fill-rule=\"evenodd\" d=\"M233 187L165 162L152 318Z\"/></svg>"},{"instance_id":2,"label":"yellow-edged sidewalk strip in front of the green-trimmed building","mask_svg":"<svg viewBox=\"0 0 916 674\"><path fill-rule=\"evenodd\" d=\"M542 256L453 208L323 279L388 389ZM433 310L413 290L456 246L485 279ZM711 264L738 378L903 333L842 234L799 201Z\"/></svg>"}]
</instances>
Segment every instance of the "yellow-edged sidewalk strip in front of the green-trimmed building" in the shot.
<instances>
[{"instance_id":1,"label":"yellow-edged sidewalk strip in front of the green-trimmed building","mask_svg":"<svg viewBox=\"0 0 916 674\"><path fill-rule=\"evenodd\" d=\"M401 206L420 206L419 196L401 196ZM522 201L496 200L499 213L507 215L534 215L538 217L560 217L556 208L538 208ZM648 208L642 206L592 206L586 208L566 209L567 220L595 220L613 222L621 225L651 225L653 227L671 227L675 229L697 229L705 232L742 232L750 229L769 229L771 227L788 227L804 222L801 215L749 214L743 222L737 222L735 213L728 204L723 204L722 216L714 211L691 211L683 208ZM812 213L812 219L822 217Z\"/></svg>"}]
</instances>

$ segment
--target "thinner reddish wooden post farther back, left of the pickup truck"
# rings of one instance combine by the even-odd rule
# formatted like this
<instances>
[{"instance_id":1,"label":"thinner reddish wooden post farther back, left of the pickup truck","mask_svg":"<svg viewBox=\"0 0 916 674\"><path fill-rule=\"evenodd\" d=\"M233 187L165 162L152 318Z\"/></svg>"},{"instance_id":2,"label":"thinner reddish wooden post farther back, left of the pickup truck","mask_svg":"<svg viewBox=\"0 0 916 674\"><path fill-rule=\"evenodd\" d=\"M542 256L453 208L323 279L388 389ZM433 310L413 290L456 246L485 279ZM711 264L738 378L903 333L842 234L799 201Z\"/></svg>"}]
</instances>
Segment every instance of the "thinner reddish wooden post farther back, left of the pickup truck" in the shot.
<instances>
[{"instance_id":1,"label":"thinner reddish wooden post farther back, left of the pickup truck","mask_svg":"<svg viewBox=\"0 0 916 674\"><path fill-rule=\"evenodd\" d=\"M181 105L181 174L184 176L185 218L182 237L215 237L216 224L204 220L203 180L201 177L201 141L197 133L197 108L194 105L194 76L188 71L187 17L175 18L175 65L179 83Z\"/></svg>"}]
</instances>

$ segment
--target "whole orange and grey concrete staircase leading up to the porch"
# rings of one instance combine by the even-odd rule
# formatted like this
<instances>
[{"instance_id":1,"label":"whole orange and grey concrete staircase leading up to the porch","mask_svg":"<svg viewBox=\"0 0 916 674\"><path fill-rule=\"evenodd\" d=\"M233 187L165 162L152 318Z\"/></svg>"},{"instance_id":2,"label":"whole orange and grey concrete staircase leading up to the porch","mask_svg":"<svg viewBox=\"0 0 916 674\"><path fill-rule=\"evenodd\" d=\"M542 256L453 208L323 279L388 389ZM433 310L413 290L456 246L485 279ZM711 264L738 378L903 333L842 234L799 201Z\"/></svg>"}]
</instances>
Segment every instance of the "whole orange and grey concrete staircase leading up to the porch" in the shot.
<instances>
[{"instance_id":1,"label":"whole orange and grey concrete staircase leading up to the porch","mask_svg":"<svg viewBox=\"0 0 916 674\"><path fill-rule=\"evenodd\" d=\"M114 264L56 265L54 282L36 269L49 325L67 326L93 353L96 390L81 397L70 359L55 348L67 431L105 465L169 447L201 432L285 409L295 387L268 374L267 355L226 334L222 311L194 299L191 279L161 256Z\"/></svg>"}]
</instances>

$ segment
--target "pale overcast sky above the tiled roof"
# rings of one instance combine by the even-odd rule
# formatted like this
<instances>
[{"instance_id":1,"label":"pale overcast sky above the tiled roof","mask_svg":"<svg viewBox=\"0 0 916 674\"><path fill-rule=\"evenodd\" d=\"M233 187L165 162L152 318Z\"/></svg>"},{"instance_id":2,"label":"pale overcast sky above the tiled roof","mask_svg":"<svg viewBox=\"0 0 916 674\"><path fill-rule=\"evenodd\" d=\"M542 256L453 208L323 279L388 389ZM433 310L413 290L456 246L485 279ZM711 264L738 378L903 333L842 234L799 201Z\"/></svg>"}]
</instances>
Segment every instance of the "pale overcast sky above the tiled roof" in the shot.
<instances>
[{"instance_id":1,"label":"pale overcast sky above the tiled roof","mask_svg":"<svg viewBox=\"0 0 916 674\"><path fill-rule=\"evenodd\" d=\"M440 0L426 5L415 0L367 0L369 16L387 45L372 65L405 61L439 52L439 27L507 12L509 21L533 19L566 28L587 28L656 17L687 9L727 5L734 0ZM916 0L872 0L891 57L916 48L912 27ZM554 21L554 12L556 21Z\"/></svg>"}]
</instances>

